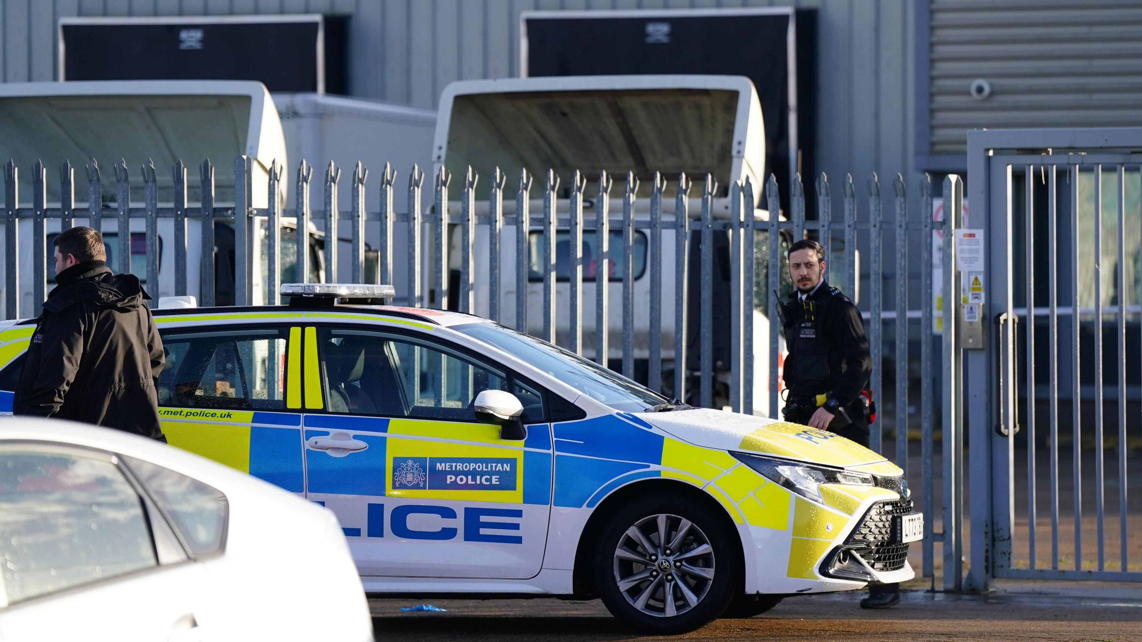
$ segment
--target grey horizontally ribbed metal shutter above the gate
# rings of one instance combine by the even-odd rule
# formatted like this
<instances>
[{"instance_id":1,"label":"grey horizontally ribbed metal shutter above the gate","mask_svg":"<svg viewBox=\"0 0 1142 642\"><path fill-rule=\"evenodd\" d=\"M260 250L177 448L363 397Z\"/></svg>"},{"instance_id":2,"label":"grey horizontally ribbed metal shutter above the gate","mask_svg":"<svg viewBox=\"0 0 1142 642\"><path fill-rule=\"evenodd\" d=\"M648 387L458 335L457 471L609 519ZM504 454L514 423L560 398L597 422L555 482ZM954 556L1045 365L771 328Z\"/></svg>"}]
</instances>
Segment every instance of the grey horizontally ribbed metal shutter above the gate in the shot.
<instances>
[{"instance_id":1,"label":"grey horizontally ribbed metal shutter above the gate","mask_svg":"<svg viewBox=\"0 0 1142 642\"><path fill-rule=\"evenodd\" d=\"M1142 125L1142 1L932 0L930 21L933 154L968 128Z\"/></svg>"}]
</instances>

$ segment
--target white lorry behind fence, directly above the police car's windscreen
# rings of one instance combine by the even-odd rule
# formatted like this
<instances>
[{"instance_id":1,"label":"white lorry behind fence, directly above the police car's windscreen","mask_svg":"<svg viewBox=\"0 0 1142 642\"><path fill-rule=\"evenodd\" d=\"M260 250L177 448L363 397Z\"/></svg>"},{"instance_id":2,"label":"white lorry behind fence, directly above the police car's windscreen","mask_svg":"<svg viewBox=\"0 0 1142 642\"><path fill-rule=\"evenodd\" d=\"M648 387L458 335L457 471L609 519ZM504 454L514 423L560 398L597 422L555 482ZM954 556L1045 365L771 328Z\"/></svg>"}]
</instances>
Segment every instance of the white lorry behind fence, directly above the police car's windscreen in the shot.
<instances>
[{"instance_id":1,"label":"white lorry behind fence, directly above the police car's windscreen","mask_svg":"<svg viewBox=\"0 0 1142 642\"><path fill-rule=\"evenodd\" d=\"M726 219L730 215L730 185L749 178L754 185L753 216L767 220L770 212L756 206L762 195L765 178L765 137L761 105L753 83L743 77L718 75L614 75L614 77L565 77L524 78L504 80L459 81L449 85L441 96L440 117L434 144L434 167L447 168L456 178L463 177L468 166L481 177L477 211L486 211L481 203L486 195L486 182L494 168L507 175L505 188L505 215L515 212L515 184L521 168L536 176L531 191L531 212L542 211L542 180L547 169L554 169L562 179L558 190L557 209L562 215L569 211L568 185L576 169L587 174L589 180L585 196L584 219L593 222L596 216L597 179L601 170L614 179L611 192L611 218L621 216L621 194L625 190L626 172L634 171L640 180L635 216L646 227L649 219L650 186L653 172L660 171L668 180L662 200L662 212L670 227L674 216L675 185L681 172L693 179L690 199L690 217L701 214L701 184L707 172L717 180L714 198L714 215ZM451 199L458 195L453 179ZM485 202L485 201L484 201ZM459 202L452 200L452 211L458 211ZM695 227L692 225L692 227ZM515 227L505 226L501 236L501 265L516 264ZM568 310L570 288L566 278L566 247L569 232L557 232L556 308ZM767 248L765 232L757 232L758 252ZM621 257L621 228L612 226L608 257L616 263ZM700 291L700 263L698 257L699 235L691 233L687 303L687 371L695 376L698 370L698 292ZM787 239L782 239L782 246ZM459 270L460 234L451 234L450 263L453 274ZM486 256L488 236L484 226L476 231L476 256ZM650 345L650 274L646 232L635 235L635 265L633 273L635 305L634 348L635 377L646 380ZM542 231L529 231L528 328L539 335L542 329ZM401 247L397 242L396 247ZM584 256L595 255L594 232L584 233ZM726 264L725 270L715 270L715 407L727 402L729 380L729 258L718 251L727 247L724 232L715 234L715 262ZM783 254L783 252L782 252ZM757 260L763 272L756 274L758 295L754 308L754 410L772 416L769 408L769 354L770 326L765 296L769 262ZM486 262L476 262L475 313L488 312L488 287L491 275ZM585 270L588 274L590 270ZM431 278L431 275L428 275ZM618 305L621 296L621 274L610 281L609 308L609 354L608 361L619 369L622 358L622 312ZM455 276L453 276L455 280ZM666 230L662 238L662 360L664 384L669 387L674 370L674 313L675 288L675 242L674 231ZM584 279L584 350L585 356L594 359L595 286L594 279ZM395 281L400 283L401 281ZM500 275L502 321L514 326L516 292L514 268L505 268ZM455 291L455 288L451 288ZM428 290L426 290L428 291ZM724 296L718 292L725 292ZM453 299L456 297L452 297ZM451 307L455 304L450 303ZM722 308L725 308L724 311ZM556 342L568 345L569 321L566 314L557 315ZM726 326L725 328L718 327ZM778 346L772 346L777 348ZM724 354L725 356L719 356ZM689 380L689 379L687 379ZM670 391L667 390L667 393ZM697 393L697 385L687 385L687 399ZM775 409L774 409L775 410Z\"/></svg>"}]
</instances>

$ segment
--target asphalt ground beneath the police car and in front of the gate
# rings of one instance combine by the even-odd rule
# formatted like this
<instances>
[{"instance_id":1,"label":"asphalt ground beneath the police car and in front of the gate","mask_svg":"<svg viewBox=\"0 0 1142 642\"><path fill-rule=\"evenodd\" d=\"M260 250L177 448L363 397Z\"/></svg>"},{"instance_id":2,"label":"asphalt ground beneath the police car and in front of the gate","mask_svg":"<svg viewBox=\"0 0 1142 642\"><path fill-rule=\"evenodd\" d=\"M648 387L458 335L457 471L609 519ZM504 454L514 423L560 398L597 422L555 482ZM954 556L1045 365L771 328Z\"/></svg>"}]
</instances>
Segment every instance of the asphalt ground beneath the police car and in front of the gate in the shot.
<instances>
[{"instance_id":1,"label":"asphalt ground beneath the police car and in front of the gate","mask_svg":"<svg viewBox=\"0 0 1142 642\"><path fill-rule=\"evenodd\" d=\"M805 595L750 619L721 619L673 637L626 628L597 600L429 600L447 612L402 612L401 607L419 603L409 600L369 603L378 641L1142 641L1142 595L1118 595L946 597L912 591L896 607L878 611L860 609L859 593Z\"/></svg>"}]
</instances>

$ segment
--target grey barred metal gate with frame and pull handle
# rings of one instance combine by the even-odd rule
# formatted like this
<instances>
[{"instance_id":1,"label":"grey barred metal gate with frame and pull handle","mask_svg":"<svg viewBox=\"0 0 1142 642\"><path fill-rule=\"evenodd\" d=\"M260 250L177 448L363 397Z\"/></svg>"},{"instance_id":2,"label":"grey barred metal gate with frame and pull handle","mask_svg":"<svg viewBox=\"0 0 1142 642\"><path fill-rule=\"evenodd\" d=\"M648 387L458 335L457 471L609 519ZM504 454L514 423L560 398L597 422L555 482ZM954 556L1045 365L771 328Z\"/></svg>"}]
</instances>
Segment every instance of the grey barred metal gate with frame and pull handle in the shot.
<instances>
[{"instance_id":1,"label":"grey barred metal gate with frame and pull handle","mask_svg":"<svg viewBox=\"0 0 1142 642\"><path fill-rule=\"evenodd\" d=\"M1140 149L1142 128L968 134L970 588L1142 580Z\"/></svg>"}]
</instances>

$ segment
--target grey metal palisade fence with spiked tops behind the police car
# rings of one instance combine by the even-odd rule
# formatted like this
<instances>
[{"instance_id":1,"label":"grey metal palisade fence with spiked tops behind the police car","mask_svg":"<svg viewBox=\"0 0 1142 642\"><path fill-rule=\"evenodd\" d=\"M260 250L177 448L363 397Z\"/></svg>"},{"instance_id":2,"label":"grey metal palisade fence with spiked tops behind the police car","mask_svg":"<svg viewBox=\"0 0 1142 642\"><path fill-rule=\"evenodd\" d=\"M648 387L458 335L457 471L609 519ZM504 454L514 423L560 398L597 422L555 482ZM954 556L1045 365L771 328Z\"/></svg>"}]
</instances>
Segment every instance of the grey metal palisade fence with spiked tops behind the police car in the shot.
<instances>
[{"instance_id":1,"label":"grey metal palisade fence with spiked tops behind the police car","mask_svg":"<svg viewBox=\"0 0 1142 642\"><path fill-rule=\"evenodd\" d=\"M215 288L223 278L216 260L218 222L233 226L233 292L238 305L259 303L254 297L259 288L266 302L279 302L282 270L289 267L282 260L287 242L296 247L292 260L298 280L311 280L314 273L311 262L316 256L312 254L313 244L319 239L309 231L320 227L329 233L320 255L327 281L363 282L375 276L379 282L393 283L397 297L409 305L482 312L493 321L522 331L532 328L529 314L541 311L536 334L548 342L555 343L557 335L563 335L565 339L560 343L566 350L593 356L604 366L618 366L627 377L640 378L669 396L702 407L725 406L735 411L767 416L779 414L779 348L783 345L780 324L769 321L775 318L772 292L789 291L785 260L788 244L795 239L817 238L829 248L829 274L834 284L859 300L864 313L872 352L870 387L882 417L887 416L896 435L907 436L914 422L909 407L919 409L916 427L919 428L922 451L918 475L922 495L917 499L926 513L927 529L923 572L933 576L933 541L942 541L944 585L951 589L959 587L963 440L956 376L959 372L958 350L954 311L947 305L936 310L933 296L934 290L959 291L957 274L950 268L954 264L951 234L947 233L957 223L955 217L949 223L933 216L938 196L928 179L920 182L919 209L910 215L906 186L898 175L890 196L894 216L886 219L876 175L868 182L867 196L858 196L852 177L846 177L841 190L843 208L839 215L835 215L831 207L833 187L821 175L815 183L815 216L810 217L799 177L791 185L791 206L786 215L779 214L779 188L772 176L762 200L756 198L759 186L749 179L719 191L717 182L706 176L692 194L690 177L681 175L668 180L660 174L646 177L649 198L640 198L648 193L645 188L640 191L645 186L640 185L638 177L627 174L621 192L614 194L621 200L616 207L611 202L614 180L605 172L588 179L587 175L576 171L564 177L570 184L561 192L561 177L554 171L547 171L539 179L541 184L536 185L538 177L522 170L509 188L508 177L497 169L489 177L484 192L486 207L483 207L477 202L480 177L468 170L459 185L459 202L456 203L450 195L452 176L442 168L428 185L432 206L426 209L421 204L425 174L413 167L407 183L408 207L399 212L394 199L396 172L387 164L378 182L380 208L376 211L365 208L369 172L360 163L351 177L348 211L335 207L340 169L333 163L324 171L321 211L311 208L313 168L305 161L293 175L291 209L283 207L281 194L286 192L283 182L288 178L276 163L267 168L268 207L251 206L254 168L248 157L234 161L233 203L215 202L214 167L209 161L200 166L201 200L198 206L187 203L187 175L182 161L171 170L172 195L162 207L155 168L150 162L142 168L142 207L130 202L131 179L123 161L114 164L115 200L108 204L104 204L98 164L93 159L86 169L88 198L82 209L74 202L74 171L70 163L59 169L59 202L47 202L46 168L40 162L31 168L31 207L21 207L18 170L11 161L6 164L6 318L38 313L48 282L49 227L56 225L49 222L56 219L59 230L79 223L102 230L105 220L113 219L116 231L130 230L132 219L143 219L145 250L140 247L137 254L140 264L132 266L132 252L124 250L115 254L112 267L127 272L139 271L142 266L147 283L163 282L160 281L159 230L161 220L171 219L174 233L167 242L174 246L172 279L169 279L174 287L169 292L152 294L156 298L159 294L195 294L188 291L188 274L196 270L196 294L199 302L207 306L216 304ZM509 207L513 191L514 208ZM536 203L533 192L538 192ZM508 206L505 206L505 196ZM698 199L697 204L691 203L692 198ZM959 178L948 177L943 182L947 204L943 210L958 216L962 201ZM767 204L767 210L756 208L756 202ZM533 208L539 211L533 214ZM560 211L561 208L566 211ZM859 216L860 210L866 215ZM447 225L442 225L445 218ZM257 260L260 256L256 255L262 251L257 236L263 219L267 239L265 268L260 270ZM21 231L29 222L30 235ZM347 243L332 242L331 231L337 231L344 222L349 228ZM517 233L521 223L526 227L525 233ZM367 238L367 224L379 227L379 238ZM201 250L196 257L188 255L188 225L201 226ZM486 228L486 234L477 234L481 226ZM396 247L394 242L396 230L407 240L404 247ZM456 247L457 234L458 262L449 256ZM593 244L585 242L586 235L594 236ZM941 235L942 242L932 241ZM30 243L22 241L25 236ZM477 238L486 239L486 243L481 244ZM645 244L642 244L643 238ZM892 238L894 244L890 246L885 241L887 238ZM614 242L618 248L612 246ZM339 244L347 248L338 248ZM126 238L120 246L126 248ZM377 248L375 275L367 274L368 247ZM867 298L856 296L861 281L858 247L869 254L867 273L871 278L867 279ZM910 248L915 249L909 252ZM338 270L339 265L346 265L344 257L338 257L338 251L344 249L351 252L348 274ZM587 256L588 250L592 257ZM933 251L942 254L939 265L943 267L939 271L932 268ZM886 265L886 258L893 263ZM457 272L457 263L458 287L452 274ZM645 268L640 270L636 263L645 263ZM403 282L394 282L397 266L404 273ZM477 273L486 274L486 282L478 280ZM537 281L538 291L530 286L532 281ZM621 287L609 287L614 281ZM643 284L649 288L643 290ZM588 292L586 287L593 291ZM21 305L18 296L14 296L29 289L33 308ZM726 292L729 296L723 297ZM485 304L477 305L477 294ZM613 300L616 295L617 302ZM539 302L533 300L537 297ZM693 297L698 297L695 302ZM611 307L616 304L618 312ZM618 360L613 359L618 346L610 345L614 330L621 342ZM592 340L587 340L588 336ZM943 347L939 354L935 352L935 342L940 340L936 336L942 337ZM729 353L727 359L721 356L723 352ZM909 367L910 352L919 354L918 370ZM886 362L894 380L885 380ZM939 378L942 394L935 390L936 372L946 374ZM893 400L891 414L883 412L885 387L893 393L888 395ZM912 399L910 392L918 394ZM942 412L938 414L940 409ZM875 450L884 448L885 423L882 418L874 424L871 447ZM943 476L943 497L939 503L933 496L938 428L942 428ZM896 439L894 451L888 455L907 470L908 440ZM917 479L915 472L910 476ZM941 516L942 533L936 532L933 538L933 527Z\"/></svg>"}]
</instances>

